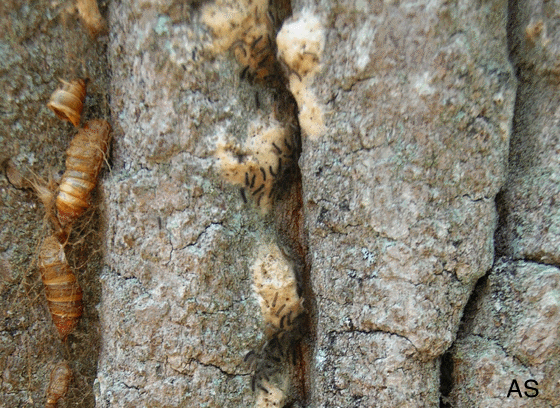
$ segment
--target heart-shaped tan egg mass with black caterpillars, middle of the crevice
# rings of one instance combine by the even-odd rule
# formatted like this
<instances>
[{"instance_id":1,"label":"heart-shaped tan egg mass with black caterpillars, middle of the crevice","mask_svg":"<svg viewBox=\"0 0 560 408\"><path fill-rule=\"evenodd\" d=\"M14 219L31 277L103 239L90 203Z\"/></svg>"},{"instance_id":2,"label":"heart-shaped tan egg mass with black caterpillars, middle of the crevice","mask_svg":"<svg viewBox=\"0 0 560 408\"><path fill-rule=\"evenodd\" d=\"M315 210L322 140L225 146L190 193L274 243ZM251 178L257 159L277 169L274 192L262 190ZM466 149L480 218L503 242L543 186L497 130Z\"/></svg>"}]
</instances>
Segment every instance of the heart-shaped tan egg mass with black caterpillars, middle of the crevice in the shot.
<instances>
[{"instance_id":1,"label":"heart-shaped tan egg mass with black caterpillars, middle of the crevice","mask_svg":"<svg viewBox=\"0 0 560 408\"><path fill-rule=\"evenodd\" d=\"M282 126L273 118L257 120L249 126L243 147L221 143L216 157L223 177L239 185L243 201L247 195L267 211L290 182L300 149L299 133L291 125Z\"/></svg>"}]
</instances>

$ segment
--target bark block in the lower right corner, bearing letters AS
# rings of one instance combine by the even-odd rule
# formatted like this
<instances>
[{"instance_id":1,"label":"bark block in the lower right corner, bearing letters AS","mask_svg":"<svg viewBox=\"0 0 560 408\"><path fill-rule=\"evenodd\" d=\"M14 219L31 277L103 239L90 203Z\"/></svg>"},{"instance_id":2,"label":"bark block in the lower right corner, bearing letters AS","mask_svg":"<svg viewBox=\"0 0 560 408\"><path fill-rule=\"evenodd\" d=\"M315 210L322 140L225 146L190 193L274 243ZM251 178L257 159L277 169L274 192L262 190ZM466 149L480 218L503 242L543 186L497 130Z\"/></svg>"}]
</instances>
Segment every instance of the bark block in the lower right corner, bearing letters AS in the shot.
<instances>
[{"instance_id":1,"label":"bark block in the lower right corner, bearing letters AS","mask_svg":"<svg viewBox=\"0 0 560 408\"><path fill-rule=\"evenodd\" d=\"M477 285L449 353L454 385L447 406L558 405L559 288L556 267L524 261L494 266Z\"/></svg>"}]
</instances>

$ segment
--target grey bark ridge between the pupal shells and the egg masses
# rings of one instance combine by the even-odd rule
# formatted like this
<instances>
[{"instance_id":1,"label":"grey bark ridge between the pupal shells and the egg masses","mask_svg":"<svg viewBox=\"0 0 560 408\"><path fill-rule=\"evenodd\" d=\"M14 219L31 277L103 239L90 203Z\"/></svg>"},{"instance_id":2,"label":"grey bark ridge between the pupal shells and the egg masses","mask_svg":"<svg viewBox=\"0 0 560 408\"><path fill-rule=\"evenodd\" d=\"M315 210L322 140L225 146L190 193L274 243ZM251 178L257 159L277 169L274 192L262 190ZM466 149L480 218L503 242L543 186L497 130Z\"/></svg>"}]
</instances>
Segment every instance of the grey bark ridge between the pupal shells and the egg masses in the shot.
<instances>
[{"instance_id":1,"label":"grey bark ridge between the pupal shells and the egg masses","mask_svg":"<svg viewBox=\"0 0 560 408\"><path fill-rule=\"evenodd\" d=\"M227 55L212 60L196 5L112 2L115 112L104 183L97 405L249 406L245 353L259 312L249 265L259 214L219 178L220 135L257 114Z\"/></svg>"}]
</instances>

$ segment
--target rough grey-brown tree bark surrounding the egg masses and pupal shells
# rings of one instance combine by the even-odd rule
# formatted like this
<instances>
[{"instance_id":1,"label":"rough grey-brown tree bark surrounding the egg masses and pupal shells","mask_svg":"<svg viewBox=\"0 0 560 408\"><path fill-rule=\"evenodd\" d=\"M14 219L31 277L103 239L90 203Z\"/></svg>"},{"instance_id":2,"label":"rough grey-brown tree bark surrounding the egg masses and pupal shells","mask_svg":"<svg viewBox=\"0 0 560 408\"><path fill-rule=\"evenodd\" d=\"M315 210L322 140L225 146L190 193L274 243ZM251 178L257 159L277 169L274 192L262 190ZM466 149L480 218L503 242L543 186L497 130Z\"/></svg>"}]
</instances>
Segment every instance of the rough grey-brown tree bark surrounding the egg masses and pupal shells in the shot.
<instances>
[{"instance_id":1,"label":"rough grey-brown tree bark surrounding the egg masses and pupal shells","mask_svg":"<svg viewBox=\"0 0 560 408\"><path fill-rule=\"evenodd\" d=\"M73 3L0 6L7 405L43 406L62 358L60 407L254 404L251 265L279 226L214 153L276 105L215 53L211 3L101 1L97 39ZM294 406L560 405L560 4L510 3L292 2L290 21L316 17L325 40L296 96L324 126L304 126L300 159L310 318ZM63 170L75 131L46 102L84 70L111 169L70 239L85 314L62 344L34 265L44 209L6 170Z\"/></svg>"}]
</instances>

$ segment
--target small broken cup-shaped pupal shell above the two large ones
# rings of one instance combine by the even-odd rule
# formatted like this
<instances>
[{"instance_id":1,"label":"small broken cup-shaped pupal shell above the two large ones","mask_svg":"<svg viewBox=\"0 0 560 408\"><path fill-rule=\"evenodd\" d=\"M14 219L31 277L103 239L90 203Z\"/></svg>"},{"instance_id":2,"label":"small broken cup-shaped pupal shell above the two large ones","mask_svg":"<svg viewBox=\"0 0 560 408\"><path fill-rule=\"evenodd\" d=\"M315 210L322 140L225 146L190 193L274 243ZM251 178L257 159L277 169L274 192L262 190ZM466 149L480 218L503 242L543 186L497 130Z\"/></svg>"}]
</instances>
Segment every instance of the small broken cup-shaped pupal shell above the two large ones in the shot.
<instances>
[{"instance_id":1,"label":"small broken cup-shaped pupal shell above the two large ones","mask_svg":"<svg viewBox=\"0 0 560 408\"><path fill-rule=\"evenodd\" d=\"M60 119L78 127L86 98L86 82L80 78L61 82L62 87L53 92L47 107Z\"/></svg>"}]
</instances>

